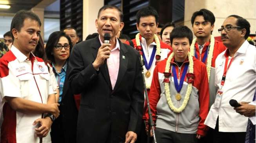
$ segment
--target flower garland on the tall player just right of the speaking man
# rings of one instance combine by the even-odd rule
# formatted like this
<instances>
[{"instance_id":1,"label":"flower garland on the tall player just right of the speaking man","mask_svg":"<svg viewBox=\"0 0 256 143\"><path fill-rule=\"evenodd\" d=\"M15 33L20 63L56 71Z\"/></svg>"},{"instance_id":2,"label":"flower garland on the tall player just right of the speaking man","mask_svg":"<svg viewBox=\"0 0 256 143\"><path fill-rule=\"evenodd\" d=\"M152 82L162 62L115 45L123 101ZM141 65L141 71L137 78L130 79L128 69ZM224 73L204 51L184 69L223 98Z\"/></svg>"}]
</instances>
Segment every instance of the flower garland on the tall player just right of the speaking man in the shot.
<instances>
[{"instance_id":1,"label":"flower garland on the tall player just right of the speaking man","mask_svg":"<svg viewBox=\"0 0 256 143\"><path fill-rule=\"evenodd\" d=\"M135 36L135 40L136 40L136 50L138 50L140 52L140 55L143 55L142 53L142 45L140 44L140 33L136 34ZM160 50L160 41L158 39L158 37L156 36L156 34L154 34L154 41L156 42L156 63L155 65L160 61L161 58L161 50ZM151 87L151 83L146 83L146 88L150 89Z\"/></svg>"}]
</instances>

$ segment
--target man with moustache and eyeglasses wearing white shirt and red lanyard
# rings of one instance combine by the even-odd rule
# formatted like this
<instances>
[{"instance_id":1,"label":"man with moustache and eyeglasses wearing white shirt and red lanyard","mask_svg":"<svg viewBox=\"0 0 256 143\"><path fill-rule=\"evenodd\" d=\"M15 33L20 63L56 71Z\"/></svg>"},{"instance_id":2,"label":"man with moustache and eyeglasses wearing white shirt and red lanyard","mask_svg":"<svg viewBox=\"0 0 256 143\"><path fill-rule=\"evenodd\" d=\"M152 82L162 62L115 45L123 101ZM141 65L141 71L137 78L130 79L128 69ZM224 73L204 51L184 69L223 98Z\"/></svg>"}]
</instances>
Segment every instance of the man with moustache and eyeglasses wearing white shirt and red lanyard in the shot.
<instances>
[{"instance_id":1,"label":"man with moustache and eyeglasses wearing white shirt and red lanyard","mask_svg":"<svg viewBox=\"0 0 256 143\"><path fill-rule=\"evenodd\" d=\"M218 91L205 125L212 130L214 143L244 143L248 117L236 113L229 101L252 101L256 88L256 48L246 40L250 23L240 16L228 16L218 31L227 50L215 61Z\"/></svg>"}]
</instances>

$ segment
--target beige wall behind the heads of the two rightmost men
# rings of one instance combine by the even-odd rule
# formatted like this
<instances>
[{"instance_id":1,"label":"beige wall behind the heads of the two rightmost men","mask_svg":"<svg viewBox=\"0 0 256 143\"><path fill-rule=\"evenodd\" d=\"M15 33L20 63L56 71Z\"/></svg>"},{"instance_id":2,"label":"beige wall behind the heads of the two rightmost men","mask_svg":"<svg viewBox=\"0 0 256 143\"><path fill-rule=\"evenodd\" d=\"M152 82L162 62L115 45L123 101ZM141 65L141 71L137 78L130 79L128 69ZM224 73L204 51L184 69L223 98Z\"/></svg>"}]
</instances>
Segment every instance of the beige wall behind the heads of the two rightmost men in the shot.
<instances>
[{"instance_id":1,"label":"beige wall behind the heads of the two rightmost men","mask_svg":"<svg viewBox=\"0 0 256 143\"><path fill-rule=\"evenodd\" d=\"M219 29L231 14L239 15L249 21L251 24L251 34L256 31L256 0L185 0L184 25L192 29L191 16L195 11L208 9L211 11L216 20L214 24L213 36L220 36Z\"/></svg>"}]
</instances>

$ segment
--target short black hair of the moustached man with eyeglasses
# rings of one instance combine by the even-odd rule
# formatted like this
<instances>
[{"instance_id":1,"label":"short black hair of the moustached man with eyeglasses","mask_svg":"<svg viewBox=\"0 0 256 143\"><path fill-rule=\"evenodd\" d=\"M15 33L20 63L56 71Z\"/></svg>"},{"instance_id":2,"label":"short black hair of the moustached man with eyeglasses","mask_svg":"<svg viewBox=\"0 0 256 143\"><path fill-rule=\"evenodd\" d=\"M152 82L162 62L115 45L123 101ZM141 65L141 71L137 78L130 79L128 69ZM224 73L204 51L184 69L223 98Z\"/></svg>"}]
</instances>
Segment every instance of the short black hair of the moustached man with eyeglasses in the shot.
<instances>
[{"instance_id":1,"label":"short black hair of the moustached man with eyeglasses","mask_svg":"<svg viewBox=\"0 0 256 143\"><path fill-rule=\"evenodd\" d=\"M238 16L238 15L230 15L230 16L228 16L228 18L229 17L234 17L234 18L237 19L236 25L241 27L241 28L238 28L238 29L245 29L246 30L244 38L247 39L250 35L250 27L251 27L250 23L246 19L244 19L244 18L242 18L241 16Z\"/></svg>"}]
</instances>

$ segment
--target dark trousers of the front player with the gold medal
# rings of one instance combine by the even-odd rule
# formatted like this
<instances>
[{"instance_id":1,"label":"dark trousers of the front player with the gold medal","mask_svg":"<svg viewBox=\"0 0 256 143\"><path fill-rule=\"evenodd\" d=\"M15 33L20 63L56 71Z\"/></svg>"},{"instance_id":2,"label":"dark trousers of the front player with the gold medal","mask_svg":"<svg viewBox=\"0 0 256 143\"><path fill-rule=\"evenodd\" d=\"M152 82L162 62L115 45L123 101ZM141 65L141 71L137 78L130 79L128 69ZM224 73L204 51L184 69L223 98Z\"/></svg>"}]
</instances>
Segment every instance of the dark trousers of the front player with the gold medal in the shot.
<instances>
[{"instance_id":1,"label":"dark trousers of the front player with the gold medal","mask_svg":"<svg viewBox=\"0 0 256 143\"><path fill-rule=\"evenodd\" d=\"M197 143L196 134L182 134L156 128L157 143Z\"/></svg>"}]
</instances>

